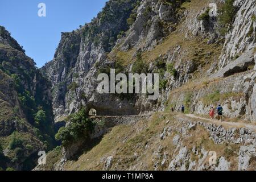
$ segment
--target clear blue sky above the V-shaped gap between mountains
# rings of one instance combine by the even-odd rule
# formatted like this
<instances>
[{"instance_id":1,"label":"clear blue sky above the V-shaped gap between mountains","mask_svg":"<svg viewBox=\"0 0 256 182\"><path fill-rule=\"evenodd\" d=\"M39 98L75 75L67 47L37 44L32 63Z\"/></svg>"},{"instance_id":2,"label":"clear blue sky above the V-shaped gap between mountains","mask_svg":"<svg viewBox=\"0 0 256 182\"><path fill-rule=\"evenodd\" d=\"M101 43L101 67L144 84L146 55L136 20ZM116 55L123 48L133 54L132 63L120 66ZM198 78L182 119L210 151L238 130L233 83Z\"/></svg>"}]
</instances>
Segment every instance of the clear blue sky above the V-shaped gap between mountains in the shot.
<instances>
[{"instance_id":1,"label":"clear blue sky above the V-shaped gap between mountains","mask_svg":"<svg viewBox=\"0 0 256 182\"><path fill-rule=\"evenodd\" d=\"M53 59L60 32L79 28L97 16L107 0L0 0L0 25L42 67ZM46 4L46 17L38 16L39 3Z\"/></svg>"}]
</instances>

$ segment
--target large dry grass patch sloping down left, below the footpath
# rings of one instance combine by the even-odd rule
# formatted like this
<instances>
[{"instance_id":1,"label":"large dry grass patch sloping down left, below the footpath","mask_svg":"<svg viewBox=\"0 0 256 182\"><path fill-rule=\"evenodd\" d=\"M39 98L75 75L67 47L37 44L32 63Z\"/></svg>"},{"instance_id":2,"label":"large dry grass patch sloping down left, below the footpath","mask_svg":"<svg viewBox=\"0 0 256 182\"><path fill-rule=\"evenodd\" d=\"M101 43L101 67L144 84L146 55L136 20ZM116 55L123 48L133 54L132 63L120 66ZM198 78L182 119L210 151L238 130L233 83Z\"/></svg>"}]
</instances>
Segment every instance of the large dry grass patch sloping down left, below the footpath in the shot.
<instances>
[{"instance_id":1,"label":"large dry grass patch sloping down left, below the footpath","mask_svg":"<svg viewBox=\"0 0 256 182\"><path fill-rule=\"evenodd\" d=\"M134 158L135 153L139 155L139 160L143 161L146 169L153 169L152 151L161 144L161 142L159 143L159 134L162 133L168 118L172 118L171 115L155 114L149 122L141 121L135 126L115 126L97 146L80 156L77 162L69 162L65 169L102 170L104 163L100 163L100 160L108 156L114 156L113 162L118 164L118 169L129 169L137 163ZM163 145L165 146L164 143L169 143L167 148L171 150L170 142L164 141ZM149 147L145 151L146 145ZM77 167L78 165L79 167Z\"/></svg>"}]
</instances>

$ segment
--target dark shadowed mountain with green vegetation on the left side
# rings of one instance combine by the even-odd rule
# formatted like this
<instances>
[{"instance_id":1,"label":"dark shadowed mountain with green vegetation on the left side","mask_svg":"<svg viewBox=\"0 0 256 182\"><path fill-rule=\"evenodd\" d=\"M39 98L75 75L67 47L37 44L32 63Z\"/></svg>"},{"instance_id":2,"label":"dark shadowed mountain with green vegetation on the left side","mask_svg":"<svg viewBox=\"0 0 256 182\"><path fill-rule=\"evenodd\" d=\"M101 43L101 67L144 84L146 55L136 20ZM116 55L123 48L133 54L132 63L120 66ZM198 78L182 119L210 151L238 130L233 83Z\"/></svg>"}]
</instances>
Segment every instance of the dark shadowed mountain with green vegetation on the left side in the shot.
<instances>
[{"instance_id":1,"label":"dark shadowed mountain with green vegetation on the left side","mask_svg":"<svg viewBox=\"0 0 256 182\"><path fill-rule=\"evenodd\" d=\"M51 85L0 26L1 169L31 169L55 145Z\"/></svg>"}]
</instances>

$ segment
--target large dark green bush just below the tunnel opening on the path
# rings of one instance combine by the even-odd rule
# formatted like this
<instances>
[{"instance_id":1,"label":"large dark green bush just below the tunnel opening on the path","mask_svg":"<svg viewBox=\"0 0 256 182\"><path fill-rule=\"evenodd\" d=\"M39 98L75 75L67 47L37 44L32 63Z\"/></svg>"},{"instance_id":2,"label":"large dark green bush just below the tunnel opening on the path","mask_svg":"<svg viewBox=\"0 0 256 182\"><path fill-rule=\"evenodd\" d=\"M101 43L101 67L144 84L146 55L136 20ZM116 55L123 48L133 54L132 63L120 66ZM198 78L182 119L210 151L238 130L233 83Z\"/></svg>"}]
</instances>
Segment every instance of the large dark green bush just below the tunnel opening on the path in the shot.
<instances>
[{"instance_id":1,"label":"large dark green bush just below the tunnel opening on the path","mask_svg":"<svg viewBox=\"0 0 256 182\"><path fill-rule=\"evenodd\" d=\"M68 146L78 139L88 139L93 133L95 124L87 117L85 109L70 115L67 118L68 126L61 127L55 135L56 140L60 140L63 146Z\"/></svg>"}]
</instances>

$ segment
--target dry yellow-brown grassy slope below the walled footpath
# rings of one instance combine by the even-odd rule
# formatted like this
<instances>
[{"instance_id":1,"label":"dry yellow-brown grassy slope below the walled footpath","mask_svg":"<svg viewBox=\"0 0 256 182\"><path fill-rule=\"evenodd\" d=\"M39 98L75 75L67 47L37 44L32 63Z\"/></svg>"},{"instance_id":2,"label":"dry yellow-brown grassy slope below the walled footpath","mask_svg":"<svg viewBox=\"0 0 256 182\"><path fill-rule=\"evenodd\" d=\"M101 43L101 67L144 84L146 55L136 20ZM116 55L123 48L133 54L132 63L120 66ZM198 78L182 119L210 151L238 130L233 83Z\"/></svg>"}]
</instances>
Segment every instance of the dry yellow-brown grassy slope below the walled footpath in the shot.
<instances>
[{"instance_id":1,"label":"dry yellow-brown grassy slope below the walled footpath","mask_svg":"<svg viewBox=\"0 0 256 182\"><path fill-rule=\"evenodd\" d=\"M172 139L178 135L177 131L173 131L170 137L160 140L159 135L164 127L172 126L179 129L181 123L177 122L174 114L156 113L149 121L141 121L135 125L115 126L112 131L106 134L101 142L92 150L85 152L77 161L69 161L65 165L67 170L102 170L105 160L108 156L113 156L113 170L128 170L136 166L135 169L151 170L154 169L155 159L154 151L158 150L161 145L169 156L177 154L175 146L172 145ZM166 121L170 120L168 124ZM231 169L237 169L238 160L237 152L239 145L226 146L214 144L208 139L209 134L201 126L197 126L196 130L189 131L190 137L183 139L183 145L192 150L193 146L203 146L207 151L216 151L217 157L225 156L229 159ZM227 150L227 148L231 150ZM136 157L136 156L138 157ZM172 156L171 159L174 157ZM199 156L192 156L194 160L199 160ZM157 161L157 160L155 160ZM208 160L206 159L205 162ZM168 165L161 169L167 169Z\"/></svg>"}]
</instances>

